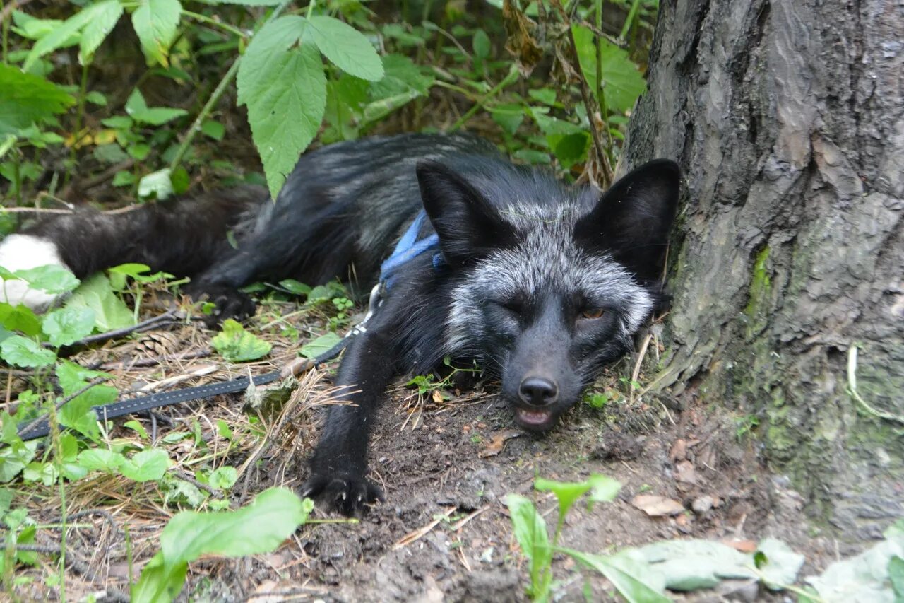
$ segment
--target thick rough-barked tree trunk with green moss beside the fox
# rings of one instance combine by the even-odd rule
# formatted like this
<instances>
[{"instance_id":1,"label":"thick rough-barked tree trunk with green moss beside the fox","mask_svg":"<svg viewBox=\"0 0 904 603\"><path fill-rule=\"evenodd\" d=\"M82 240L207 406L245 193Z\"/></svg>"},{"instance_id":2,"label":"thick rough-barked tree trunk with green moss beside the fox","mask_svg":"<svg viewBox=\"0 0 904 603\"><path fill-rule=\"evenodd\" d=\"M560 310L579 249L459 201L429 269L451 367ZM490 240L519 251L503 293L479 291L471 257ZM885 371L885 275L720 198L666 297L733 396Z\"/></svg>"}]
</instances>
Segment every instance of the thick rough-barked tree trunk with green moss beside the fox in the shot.
<instances>
[{"instance_id":1,"label":"thick rough-barked tree trunk with green moss beside the fox","mask_svg":"<svg viewBox=\"0 0 904 603\"><path fill-rule=\"evenodd\" d=\"M663 0L649 88L623 163L686 185L656 387L758 416L815 518L877 537L904 515L904 2Z\"/></svg>"}]
</instances>

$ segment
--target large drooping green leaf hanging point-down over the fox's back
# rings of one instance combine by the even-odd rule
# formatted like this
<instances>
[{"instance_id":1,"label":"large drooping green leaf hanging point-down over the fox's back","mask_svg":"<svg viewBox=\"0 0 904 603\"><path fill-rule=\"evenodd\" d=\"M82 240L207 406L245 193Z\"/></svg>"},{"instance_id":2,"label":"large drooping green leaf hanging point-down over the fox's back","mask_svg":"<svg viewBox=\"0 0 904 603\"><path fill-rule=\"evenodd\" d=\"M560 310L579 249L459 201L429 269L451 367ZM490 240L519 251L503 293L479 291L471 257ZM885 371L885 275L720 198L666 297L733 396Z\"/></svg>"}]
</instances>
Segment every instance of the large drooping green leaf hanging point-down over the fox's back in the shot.
<instances>
[{"instance_id":1,"label":"large drooping green leaf hanging point-down over the fox's back","mask_svg":"<svg viewBox=\"0 0 904 603\"><path fill-rule=\"evenodd\" d=\"M312 43L290 48L302 24L303 17L289 15L265 25L239 66L239 104L248 105L251 136L273 198L320 129L326 107L320 53Z\"/></svg>"}]
</instances>

